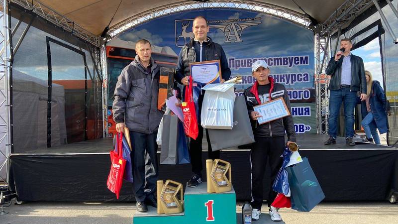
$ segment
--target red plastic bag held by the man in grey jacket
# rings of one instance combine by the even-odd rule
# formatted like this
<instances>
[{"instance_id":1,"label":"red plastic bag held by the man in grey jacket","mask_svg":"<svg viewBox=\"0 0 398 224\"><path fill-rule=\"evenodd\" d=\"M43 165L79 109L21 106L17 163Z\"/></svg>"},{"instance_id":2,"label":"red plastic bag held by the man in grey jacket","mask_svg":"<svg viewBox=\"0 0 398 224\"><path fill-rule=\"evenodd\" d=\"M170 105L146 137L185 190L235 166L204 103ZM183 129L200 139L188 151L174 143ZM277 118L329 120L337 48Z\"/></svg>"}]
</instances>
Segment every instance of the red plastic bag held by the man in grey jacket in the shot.
<instances>
[{"instance_id":1,"label":"red plastic bag held by the man in grey jacket","mask_svg":"<svg viewBox=\"0 0 398 224\"><path fill-rule=\"evenodd\" d=\"M123 135L118 134L117 143L115 144L115 149L110 151L110 171L106 185L108 189L116 194L116 198L119 199L121 185L123 183L123 173L126 166L126 160L123 158L123 150L118 150L122 148Z\"/></svg>"}]
</instances>

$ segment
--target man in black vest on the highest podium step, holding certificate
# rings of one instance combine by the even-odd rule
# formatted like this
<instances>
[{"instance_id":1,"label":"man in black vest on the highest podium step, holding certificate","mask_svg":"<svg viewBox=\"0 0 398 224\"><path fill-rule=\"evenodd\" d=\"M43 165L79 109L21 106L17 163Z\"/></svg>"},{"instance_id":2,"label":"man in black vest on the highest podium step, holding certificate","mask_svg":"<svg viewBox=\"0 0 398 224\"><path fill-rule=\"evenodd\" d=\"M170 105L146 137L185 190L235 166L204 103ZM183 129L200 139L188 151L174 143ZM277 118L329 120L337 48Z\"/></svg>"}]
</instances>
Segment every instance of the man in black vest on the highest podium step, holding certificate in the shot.
<instances>
[{"instance_id":1,"label":"man in black vest on the highest podium step, holding certificate","mask_svg":"<svg viewBox=\"0 0 398 224\"><path fill-rule=\"evenodd\" d=\"M207 32L209 31L209 27L207 26L207 20L203 16L198 16L194 19L193 28L194 39L191 39L182 49L180 55L178 57L176 75L175 79L187 86L189 84L189 76L192 75L195 82L199 82L201 86L204 86L206 83L214 82L214 83L222 83L225 80L228 80L231 76L231 70L228 67L228 61L225 55L224 50L221 45L214 43L210 37L207 36ZM211 61L209 63L206 63ZM192 63L202 62L202 64L208 64L207 66L198 65L193 70L199 70L201 72L191 74L191 66ZM200 64L200 63L199 63ZM209 75L211 71L219 71L215 73L213 77ZM194 71L193 71L194 72ZM184 88L184 92L187 88ZM197 113L200 113L201 106L203 102L204 91L201 91L199 95L198 104L199 110ZM185 96L183 94L183 96ZM197 107L198 108L198 107ZM201 181L201 171L202 167L202 138L203 138L203 128L200 125L200 114L198 115L198 128L199 135L196 139L191 138L190 141L190 154L191 154L191 164L192 164L192 172L193 176L188 182L188 187L196 187ZM208 137L208 133L206 131L207 143L208 143L208 158L209 159L217 159L220 156L219 151L213 152L211 149L210 140Z\"/></svg>"}]
</instances>

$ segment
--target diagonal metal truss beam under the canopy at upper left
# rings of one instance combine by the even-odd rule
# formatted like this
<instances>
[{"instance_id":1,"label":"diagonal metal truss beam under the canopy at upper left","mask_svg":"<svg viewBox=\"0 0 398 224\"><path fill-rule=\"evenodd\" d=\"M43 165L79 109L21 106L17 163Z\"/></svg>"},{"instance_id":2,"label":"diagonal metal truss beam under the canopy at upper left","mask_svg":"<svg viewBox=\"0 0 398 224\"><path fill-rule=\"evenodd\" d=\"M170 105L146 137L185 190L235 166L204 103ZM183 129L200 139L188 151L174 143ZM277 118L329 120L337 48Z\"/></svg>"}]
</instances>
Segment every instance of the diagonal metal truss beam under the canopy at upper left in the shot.
<instances>
[{"instance_id":1,"label":"diagonal metal truss beam under the canopy at upper left","mask_svg":"<svg viewBox=\"0 0 398 224\"><path fill-rule=\"evenodd\" d=\"M87 31L79 24L69 18L59 14L51 7L41 3L38 0L10 0L30 11L33 11L37 15L43 17L44 19L62 27L63 29L73 33L74 35L100 47L100 37Z\"/></svg>"}]
</instances>

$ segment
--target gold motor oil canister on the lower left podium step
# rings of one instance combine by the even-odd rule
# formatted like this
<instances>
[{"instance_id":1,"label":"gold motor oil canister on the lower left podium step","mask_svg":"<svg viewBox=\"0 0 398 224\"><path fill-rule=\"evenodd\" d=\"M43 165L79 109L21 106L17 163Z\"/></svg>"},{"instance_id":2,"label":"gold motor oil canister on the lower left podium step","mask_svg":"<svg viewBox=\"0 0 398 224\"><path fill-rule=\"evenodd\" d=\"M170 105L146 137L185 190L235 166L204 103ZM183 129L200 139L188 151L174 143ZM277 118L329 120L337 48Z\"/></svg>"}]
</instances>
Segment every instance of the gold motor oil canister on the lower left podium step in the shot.
<instances>
[{"instance_id":1,"label":"gold motor oil canister on the lower left podium step","mask_svg":"<svg viewBox=\"0 0 398 224\"><path fill-rule=\"evenodd\" d=\"M184 211L183 185L166 180L156 182L158 214L177 214Z\"/></svg>"}]
</instances>

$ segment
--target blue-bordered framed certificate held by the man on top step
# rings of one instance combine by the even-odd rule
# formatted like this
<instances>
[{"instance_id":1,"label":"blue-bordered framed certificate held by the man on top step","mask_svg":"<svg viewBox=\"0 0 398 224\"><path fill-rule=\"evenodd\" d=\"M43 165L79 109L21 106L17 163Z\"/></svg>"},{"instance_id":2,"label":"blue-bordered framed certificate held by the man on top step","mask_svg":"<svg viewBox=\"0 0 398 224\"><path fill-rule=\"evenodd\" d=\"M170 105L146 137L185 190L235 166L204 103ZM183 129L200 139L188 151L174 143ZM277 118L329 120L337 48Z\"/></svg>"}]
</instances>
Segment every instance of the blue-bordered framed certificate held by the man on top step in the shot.
<instances>
[{"instance_id":1,"label":"blue-bordered framed certificate held by the man on top step","mask_svg":"<svg viewBox=\"0 0 398 224\"><path fill-rule=\"evenodd\" d=\"M220 60L191 63L190 71L195 82L201 84L221 83Z\"/></svg>"}]
</instances>

